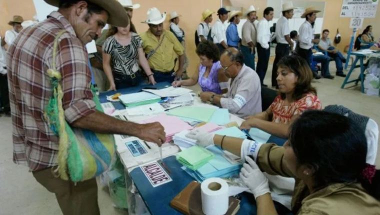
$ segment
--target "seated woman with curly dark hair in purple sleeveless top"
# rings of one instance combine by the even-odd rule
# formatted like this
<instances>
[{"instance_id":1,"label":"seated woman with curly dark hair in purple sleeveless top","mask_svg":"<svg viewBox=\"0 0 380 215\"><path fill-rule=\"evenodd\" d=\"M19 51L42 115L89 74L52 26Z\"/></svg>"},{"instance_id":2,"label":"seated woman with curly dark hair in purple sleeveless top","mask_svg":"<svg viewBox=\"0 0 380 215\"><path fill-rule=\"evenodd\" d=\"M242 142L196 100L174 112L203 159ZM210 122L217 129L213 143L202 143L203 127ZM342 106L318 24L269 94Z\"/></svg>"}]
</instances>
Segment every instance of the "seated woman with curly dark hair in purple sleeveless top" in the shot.
<instances>
[{"instance_id":1,"label":"seated woman with curly dark hair in purple sleeveless top","mask_svg":"<svg viewBox=\"0 0 380 215\"><path fill-rule=\"evenodd\" d=\"M210 91L221 94L222 90L227 88L225 76L220 65L219 48L211 41L201 41L196 46L196 54L199 56L200 64L197 71L191 78L186 80L175 80L171 83L173 86L192 86L199 83L202 91Z\"/></svg>"}]
</instances>

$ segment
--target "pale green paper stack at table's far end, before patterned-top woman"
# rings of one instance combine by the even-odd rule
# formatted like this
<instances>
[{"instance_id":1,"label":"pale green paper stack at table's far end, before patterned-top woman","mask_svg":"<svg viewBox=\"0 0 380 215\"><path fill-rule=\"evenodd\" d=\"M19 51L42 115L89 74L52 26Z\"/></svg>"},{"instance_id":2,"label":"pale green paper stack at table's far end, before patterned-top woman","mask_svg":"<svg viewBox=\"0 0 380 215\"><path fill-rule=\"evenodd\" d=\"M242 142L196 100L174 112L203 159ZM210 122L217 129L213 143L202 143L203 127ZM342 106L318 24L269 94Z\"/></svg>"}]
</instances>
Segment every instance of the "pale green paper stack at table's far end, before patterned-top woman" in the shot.
<instances>
[{"instance_id":1,"label":"pale green paper stack at table's far end, before patterned-top woman","mask_svg":"<svg viewBox=\"0 0 380 215\"><path fill-rule=\"evenodd\" d=\"M161 97L149 92L136 92L120 95L119 99L125 106L133 107L158 102Z\"/></svg>"}]
</instances>

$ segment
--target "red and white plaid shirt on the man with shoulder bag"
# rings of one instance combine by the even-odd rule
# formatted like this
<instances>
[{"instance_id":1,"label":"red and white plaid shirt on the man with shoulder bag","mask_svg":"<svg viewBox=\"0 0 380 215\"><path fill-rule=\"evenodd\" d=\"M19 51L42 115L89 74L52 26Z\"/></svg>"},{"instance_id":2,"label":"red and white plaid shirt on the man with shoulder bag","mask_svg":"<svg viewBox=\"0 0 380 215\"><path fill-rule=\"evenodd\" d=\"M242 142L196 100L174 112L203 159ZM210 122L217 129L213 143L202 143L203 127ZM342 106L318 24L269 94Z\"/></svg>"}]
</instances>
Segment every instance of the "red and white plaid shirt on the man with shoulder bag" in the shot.
<instances>
[{"instance_id":1,"label":"red and white plaid shirt on the man with shoulder bag","mask_svg":"<svg viewBox=\"0 0 380 215\"><path fill-rule=\"evenodd\" d=\"M58 137L44 118L52 88L51 68L55 35L59 39L56 69L62 75L63 109L71 123L95 111L89 88L91 74L84 44L66 18L54 11L44 21L22 30L8 48L9 100L13 123L13 161L30 170L56 165Z\"/></svg>"}]
</instances>

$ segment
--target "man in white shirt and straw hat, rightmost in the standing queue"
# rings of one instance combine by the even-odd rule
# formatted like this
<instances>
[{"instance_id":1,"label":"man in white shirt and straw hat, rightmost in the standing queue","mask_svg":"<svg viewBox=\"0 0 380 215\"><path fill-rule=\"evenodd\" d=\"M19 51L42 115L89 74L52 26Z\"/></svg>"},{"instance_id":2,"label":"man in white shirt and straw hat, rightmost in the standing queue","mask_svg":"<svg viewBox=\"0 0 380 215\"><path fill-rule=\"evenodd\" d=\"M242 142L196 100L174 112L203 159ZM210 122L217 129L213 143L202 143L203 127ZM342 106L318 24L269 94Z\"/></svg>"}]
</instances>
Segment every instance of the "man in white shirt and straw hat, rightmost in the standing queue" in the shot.
<instances>
[{"instance_id":1,"label":"man in white shirt and straw hat, rightmost in the standing queue","mask_svg":"<svg viewBox=\"0 0 380 215\"><path fill-rule=\"evenodd\" d=\"M305 22L299 27L298 30L298 42L299 48L297 50L298 54L305 58L307 63L311 66L311 54L312 47L314 44L319 43L319 39L314 38L314 22L316 19L316 13L320 12L320 10L316 10L313 7L308 7L305 9L301 18L306 18ZM312 70L312 69L311 69ZM320 75L313 71L313 76L315 79L319 79Z\"/></svg>"}]
</instances>

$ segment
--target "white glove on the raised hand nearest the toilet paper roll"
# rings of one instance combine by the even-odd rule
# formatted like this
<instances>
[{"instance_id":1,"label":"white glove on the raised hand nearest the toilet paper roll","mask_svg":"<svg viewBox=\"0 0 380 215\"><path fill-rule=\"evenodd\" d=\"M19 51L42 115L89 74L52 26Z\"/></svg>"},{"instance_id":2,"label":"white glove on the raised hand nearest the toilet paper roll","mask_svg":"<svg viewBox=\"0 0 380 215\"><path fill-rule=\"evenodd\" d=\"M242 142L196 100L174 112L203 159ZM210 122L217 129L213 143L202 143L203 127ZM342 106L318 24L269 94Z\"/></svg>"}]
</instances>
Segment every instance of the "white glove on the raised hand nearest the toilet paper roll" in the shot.
<instances>
[{"instance_id":1,"label":"white glove on the raised hand nearest the toilet paper roll","mask_svg":"<svg viewBox=\"0 0 380 215\"><path fill-rule=\"evenodd\" d=\"M268 178L261 172L257 164L248 156L240 170L240 178L245 185L252 191L254 198L263 195L269 191Z\"/></svg>"}]
</instances>

